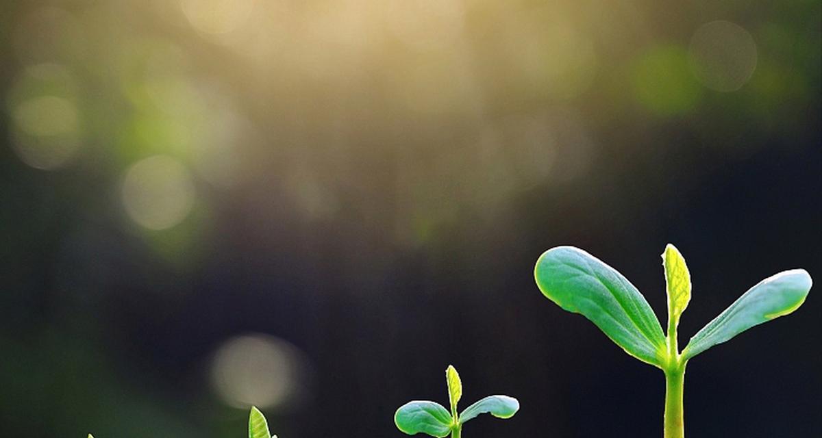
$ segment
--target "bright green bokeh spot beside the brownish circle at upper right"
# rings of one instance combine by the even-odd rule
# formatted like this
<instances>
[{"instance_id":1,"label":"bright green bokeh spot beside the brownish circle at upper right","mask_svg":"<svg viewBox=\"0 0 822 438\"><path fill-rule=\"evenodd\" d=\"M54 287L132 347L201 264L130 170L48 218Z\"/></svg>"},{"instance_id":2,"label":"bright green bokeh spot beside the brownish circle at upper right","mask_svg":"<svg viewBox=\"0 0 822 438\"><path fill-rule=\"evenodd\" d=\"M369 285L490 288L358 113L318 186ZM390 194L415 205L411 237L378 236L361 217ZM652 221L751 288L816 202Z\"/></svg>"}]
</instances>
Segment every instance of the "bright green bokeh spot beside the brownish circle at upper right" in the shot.
<instances>
[{"instance_id":1,"label":"bright green bokeh spot beside the brownish circle at upper right","mask_svg":"<svg viewBox=\"0 0 822 438\"><path fill-rule=\"evenodd\" d=\"M701 87L690 75L685 49L678 46L650 48L635 63L635 97L653 113L687 113L699 103Z\"/></svg>"}]
</instances>

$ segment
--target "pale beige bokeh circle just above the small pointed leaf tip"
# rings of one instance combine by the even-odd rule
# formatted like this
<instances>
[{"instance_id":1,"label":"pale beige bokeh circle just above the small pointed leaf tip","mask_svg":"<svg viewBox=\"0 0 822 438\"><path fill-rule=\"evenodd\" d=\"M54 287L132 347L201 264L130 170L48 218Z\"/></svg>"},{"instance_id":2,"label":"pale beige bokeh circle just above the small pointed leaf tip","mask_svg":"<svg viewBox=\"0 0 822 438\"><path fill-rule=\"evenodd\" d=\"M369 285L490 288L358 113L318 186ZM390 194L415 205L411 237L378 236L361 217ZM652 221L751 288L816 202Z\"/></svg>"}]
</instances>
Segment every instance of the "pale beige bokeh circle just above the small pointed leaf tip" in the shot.
<instances>
[{"instance_id":1,"label":"pale beige bokeh circle just above the small pointed leaf tip","mask_svg":"<svg viewBox=\"0 0 822 438\"><path fill-rule=\"evenodd\" d=\"M301 394L302 359L282 339L247 334L221 345L211 363L211 384L229 405L283 408Z\"/></svg>"}]
</instances>

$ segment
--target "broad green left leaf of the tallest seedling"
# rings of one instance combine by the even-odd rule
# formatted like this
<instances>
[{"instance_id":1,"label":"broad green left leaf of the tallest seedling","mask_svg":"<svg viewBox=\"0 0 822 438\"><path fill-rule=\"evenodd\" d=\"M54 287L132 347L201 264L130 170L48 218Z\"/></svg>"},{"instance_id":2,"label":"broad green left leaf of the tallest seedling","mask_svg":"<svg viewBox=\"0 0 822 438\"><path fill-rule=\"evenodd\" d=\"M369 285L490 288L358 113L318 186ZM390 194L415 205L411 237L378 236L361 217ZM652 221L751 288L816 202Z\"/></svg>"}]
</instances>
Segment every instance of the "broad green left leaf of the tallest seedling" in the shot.
<instances>
[{"instance_id":1,"label":"broad green left leaf of the tallest seedling","mask_svg":"<svg viewBox=\"0 0 822 438\"><path fill-rule=\"evenodd\" d=\"M662 366L666 349L659 320L617 270L579 248L555 247L539 257L534 277L552 302L591 320L631 356Z\"/></svg>"}]
</instances>

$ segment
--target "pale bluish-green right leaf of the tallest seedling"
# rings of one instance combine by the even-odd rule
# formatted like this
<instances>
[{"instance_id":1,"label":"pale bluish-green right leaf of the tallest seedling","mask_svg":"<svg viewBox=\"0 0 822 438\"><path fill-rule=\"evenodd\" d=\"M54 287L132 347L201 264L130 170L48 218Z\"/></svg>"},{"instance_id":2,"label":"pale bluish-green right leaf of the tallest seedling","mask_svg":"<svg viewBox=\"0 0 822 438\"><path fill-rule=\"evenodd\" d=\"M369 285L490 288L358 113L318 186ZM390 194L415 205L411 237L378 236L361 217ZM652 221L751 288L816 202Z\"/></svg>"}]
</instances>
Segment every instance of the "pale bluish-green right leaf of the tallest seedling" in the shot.
<instances>
[{"instance_id":1,"label":"pale bluish-green right leaf of the tallest seedling","mask_svg":"<svg viewBox=\"0 0 822 438\"><path fill-rule=\"evenodd\" d=\"M760 281L690 339L682 351L690 359L754 325L797 310L813 281L806 270L786 270Z\"/></svg>"}]
</instances>

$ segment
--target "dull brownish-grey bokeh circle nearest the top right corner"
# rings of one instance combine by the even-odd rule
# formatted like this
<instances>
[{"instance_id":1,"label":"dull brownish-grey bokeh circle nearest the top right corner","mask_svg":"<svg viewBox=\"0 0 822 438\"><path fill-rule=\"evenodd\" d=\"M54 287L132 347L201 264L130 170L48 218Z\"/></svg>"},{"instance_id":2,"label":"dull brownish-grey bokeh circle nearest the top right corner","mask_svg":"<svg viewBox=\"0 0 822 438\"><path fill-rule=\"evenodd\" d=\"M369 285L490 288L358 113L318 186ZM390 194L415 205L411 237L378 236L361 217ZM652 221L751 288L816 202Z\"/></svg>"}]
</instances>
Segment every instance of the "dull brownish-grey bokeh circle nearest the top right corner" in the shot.
<instances>
[{"instance_id":1,"label":"dull brownish-grey bokeh circle nearest the top right corner","mask_svg":"<svg viewBox=\"0 0 822 438\"><path fill-rule=\"evenodd\" d=\"M711 90L739 90L754 74L756 60L754 38L730 21L711 21L690 39L691 71Z\"/></svg>"}]
</instances>

